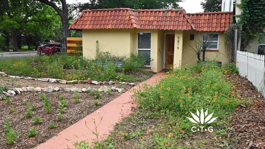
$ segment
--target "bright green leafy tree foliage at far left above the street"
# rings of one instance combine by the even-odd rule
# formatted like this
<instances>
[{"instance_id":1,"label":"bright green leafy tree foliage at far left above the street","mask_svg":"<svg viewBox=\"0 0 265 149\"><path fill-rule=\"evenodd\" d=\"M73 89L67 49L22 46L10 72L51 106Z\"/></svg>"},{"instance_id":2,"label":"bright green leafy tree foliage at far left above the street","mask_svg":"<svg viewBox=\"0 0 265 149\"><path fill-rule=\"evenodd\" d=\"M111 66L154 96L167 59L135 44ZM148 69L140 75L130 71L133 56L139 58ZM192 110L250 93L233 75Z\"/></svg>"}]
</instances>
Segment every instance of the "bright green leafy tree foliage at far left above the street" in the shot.
<instances>
[{"instance_id":1,"label":"bright green leafy tree foliage at far left above the street","mask_svg":"<svg viewBox=\"0 0 265 149\"><path fill-rule=\"evenodd\" d=\"M60 24L57 13L50 7L34 0L3 0L0 11L0 30L8 37L11 34L12 45L20 47L21 35L37 46L44 38L54 36L54 27ZM57 23L58 22L58 23ZM29 45L29 44L28 44Z\"/></svg>"}]
</instances>

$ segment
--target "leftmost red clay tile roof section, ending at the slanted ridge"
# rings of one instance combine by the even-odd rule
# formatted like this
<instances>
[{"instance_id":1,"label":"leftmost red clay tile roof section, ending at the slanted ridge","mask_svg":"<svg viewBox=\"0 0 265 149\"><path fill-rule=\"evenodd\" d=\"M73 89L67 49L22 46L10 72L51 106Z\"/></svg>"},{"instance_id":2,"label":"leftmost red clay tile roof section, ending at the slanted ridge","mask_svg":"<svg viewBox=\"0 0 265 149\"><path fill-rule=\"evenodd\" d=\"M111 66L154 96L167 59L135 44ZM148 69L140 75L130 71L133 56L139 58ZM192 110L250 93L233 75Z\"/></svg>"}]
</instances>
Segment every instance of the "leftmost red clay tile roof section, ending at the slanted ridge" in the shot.
<instances>
[{"instance_id":1,"label":"leftmost red clay tile roof section, ending at the slanted ridge","mask_svg":"<svg viewBox=\"0 0 265 149\"><path fill-rule=\"evenodd\" d=\"M140 29L135 14L130 8L83 10L69 29Z\"/></svg>"}]
</instances>

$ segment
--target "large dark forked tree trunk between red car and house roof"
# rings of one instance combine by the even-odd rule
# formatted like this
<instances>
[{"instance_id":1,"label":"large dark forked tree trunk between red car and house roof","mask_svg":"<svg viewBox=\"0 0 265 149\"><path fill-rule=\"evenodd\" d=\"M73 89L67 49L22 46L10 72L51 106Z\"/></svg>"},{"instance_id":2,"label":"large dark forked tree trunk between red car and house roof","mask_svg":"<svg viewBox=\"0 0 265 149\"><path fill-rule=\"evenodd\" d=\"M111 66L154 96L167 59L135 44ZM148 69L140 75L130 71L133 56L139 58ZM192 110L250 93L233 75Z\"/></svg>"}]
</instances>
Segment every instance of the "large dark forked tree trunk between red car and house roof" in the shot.
<instances>
[{"instance_id":1,"label":"large dark forked tree trunk between red car and house roof","mask_svg":"<svg viewBox=\"0 0 265 149\"><path fill-rule=\"evenodd\" d=\"M50 1L47 0L38 0L42 3L45 3L49 6L51 6L52 8L54 8L54 10L59 14L59 16L61 17L61 21L62 21L62 29L63 29L63 37L62 37L62 45L63 45L63 52L66 53L67 49L66 49L66 39L67 37L71 37L71 33L69 28L69 22L68 22L68 8L67 8L67 4L65 0L60 0L61 4L62 4L62 8L63 10L60 10L60 8L55 4L52 3Z\"/></svg>"}]
</instances>

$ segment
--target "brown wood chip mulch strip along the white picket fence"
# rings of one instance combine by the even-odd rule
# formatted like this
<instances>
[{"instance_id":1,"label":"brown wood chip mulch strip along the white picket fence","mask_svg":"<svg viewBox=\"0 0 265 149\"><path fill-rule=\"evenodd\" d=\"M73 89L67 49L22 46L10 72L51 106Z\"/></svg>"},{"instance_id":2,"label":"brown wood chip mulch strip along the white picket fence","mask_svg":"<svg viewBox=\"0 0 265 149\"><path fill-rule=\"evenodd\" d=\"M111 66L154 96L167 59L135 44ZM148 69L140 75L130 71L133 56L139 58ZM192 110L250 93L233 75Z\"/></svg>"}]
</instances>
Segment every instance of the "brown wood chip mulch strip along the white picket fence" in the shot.
<instances>
[{"instance_id":1,"label":"brown wood chip mulch strip along the white picket fence","mask_svg":"<svg viewBox=\"0 0 265 149\"><path fill-rule=\"evenodd\" d=\"M240 96L250 101L250 105L240 106L240 110L231 115L232 130L229 130L228 137L235 139L236 144L229 148L265 148L265 98L249 80L238 75L228 77L234 80L234 91L239 90Z\"/></svg>"}]
</instances>

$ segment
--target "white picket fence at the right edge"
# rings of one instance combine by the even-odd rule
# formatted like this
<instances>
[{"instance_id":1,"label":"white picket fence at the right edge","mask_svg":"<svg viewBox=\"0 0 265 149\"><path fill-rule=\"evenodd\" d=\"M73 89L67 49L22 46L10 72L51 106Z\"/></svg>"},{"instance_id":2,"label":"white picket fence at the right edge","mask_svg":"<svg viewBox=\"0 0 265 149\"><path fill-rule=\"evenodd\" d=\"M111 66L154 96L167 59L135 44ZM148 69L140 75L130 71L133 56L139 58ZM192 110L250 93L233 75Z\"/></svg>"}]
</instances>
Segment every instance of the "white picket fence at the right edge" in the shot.
<instances>
[{"instance_id":1,"label":"white picket fence at the right edge","mask_svg":"<svg viewBox=\"0 0 265 149\"><path fill-rule=\"evenodd\" d=\"M237 51L236 62L239 75L246 77L250 82L252 82L262 96L265 97L264 55Z\"/></svg>"}]
</instances>

